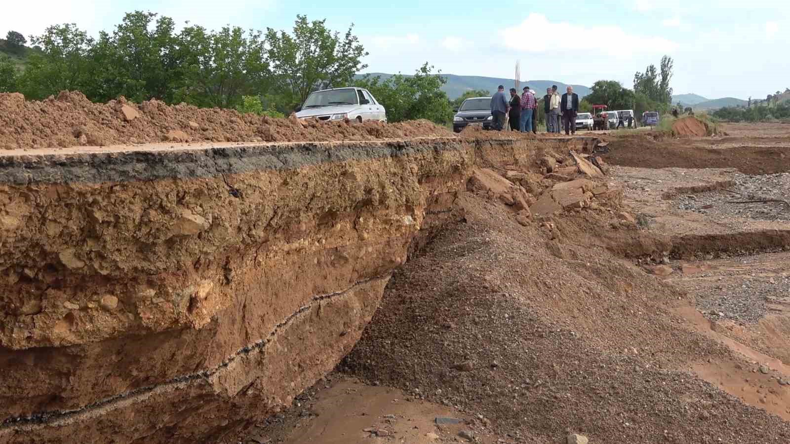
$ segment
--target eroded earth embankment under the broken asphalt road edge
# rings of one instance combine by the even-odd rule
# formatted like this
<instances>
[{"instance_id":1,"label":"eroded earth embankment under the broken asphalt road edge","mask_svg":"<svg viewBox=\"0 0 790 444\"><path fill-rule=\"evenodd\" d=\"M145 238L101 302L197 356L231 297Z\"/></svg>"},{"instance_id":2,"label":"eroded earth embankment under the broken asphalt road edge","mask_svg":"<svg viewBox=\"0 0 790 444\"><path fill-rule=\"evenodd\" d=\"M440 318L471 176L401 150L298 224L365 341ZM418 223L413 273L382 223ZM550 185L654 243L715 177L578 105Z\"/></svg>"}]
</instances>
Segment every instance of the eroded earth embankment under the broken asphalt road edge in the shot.
<instances>
[{"instance_id":1,"label":"eroded earth embankment under the broken asphalt road edge","mask_svg":"<svg viewBox=\"0 0 790 444\"><path fill-rule=\"evenodd\" d=\"M477 156L518 167L589 143L6 152L0 442L250 427L350 351L391 271L453 218Z\"/></svg>"}]
</instances>

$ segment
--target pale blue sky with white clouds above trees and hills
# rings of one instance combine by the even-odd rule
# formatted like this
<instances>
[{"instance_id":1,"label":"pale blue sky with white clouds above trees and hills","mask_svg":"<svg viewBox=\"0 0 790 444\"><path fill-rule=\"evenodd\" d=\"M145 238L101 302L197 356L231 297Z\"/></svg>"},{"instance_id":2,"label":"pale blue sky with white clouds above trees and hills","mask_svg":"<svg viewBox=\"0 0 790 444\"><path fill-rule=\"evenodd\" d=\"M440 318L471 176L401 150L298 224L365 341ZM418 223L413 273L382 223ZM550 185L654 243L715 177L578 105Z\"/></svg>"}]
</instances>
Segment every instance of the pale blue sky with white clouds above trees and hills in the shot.
<instances>
[{"instance_id":1,"label":"pale blue sky with white clouds above trees and hills","mask_svg":"<svg viewBox=\"0 0 790 444\"><path fill-rule=\"evenodd\" d=\"M9 2L0 33L25 36L73 22L96 35L123 13L150 10L207 28L290 28L297 13L352 22L371 53L367 71L412 73L430 62L443 73L592 85L675 59L675 94L765 98L790 87L788 0L591 0L587 2L299 2L293 0L59 0Z\"/></svg>"}]
</instances>

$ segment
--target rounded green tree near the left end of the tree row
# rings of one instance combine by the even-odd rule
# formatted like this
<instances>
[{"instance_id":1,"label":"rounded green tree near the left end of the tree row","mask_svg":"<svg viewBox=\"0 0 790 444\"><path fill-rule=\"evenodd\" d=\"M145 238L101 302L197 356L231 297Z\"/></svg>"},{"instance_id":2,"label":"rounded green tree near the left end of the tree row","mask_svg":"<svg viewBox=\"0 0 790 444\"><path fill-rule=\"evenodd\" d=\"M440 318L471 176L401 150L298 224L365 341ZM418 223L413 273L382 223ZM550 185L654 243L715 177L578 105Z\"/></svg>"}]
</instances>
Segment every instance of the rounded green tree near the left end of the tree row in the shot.
<instances>
[{"instance_id":1,"label":"rounded green tree near the left end of the tree row","mask_svg":"<svg viewBox=\"0 0 790 444\"><path fill-rule=\"evenodd\" d=\"M44 99L59 91L84 91L93 81L88 52L94 40L76 24L50 26L32 38L41 51L32 51L18 87L24 96Z\"/></svg>"}]
</instances>

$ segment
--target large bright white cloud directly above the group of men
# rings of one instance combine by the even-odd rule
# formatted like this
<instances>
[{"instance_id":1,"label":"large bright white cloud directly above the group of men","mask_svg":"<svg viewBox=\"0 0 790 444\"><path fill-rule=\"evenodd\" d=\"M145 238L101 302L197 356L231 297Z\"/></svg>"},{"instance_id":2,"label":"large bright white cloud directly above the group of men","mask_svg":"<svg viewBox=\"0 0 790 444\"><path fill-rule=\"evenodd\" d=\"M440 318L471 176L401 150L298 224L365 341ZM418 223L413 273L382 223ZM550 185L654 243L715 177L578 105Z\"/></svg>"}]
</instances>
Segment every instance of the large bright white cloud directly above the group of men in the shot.
<instances>
[{"instance_id":1,"label":"large bright white cloud directly above the group of men","mask_svg":"<svg viewBox=\"0 0 790 444\"><path fill-rule=\"evenodd\" d=\"M502 43L517 51L556 52L590 51L628 57L636 52L667 53L675 51L677 43L657 36L626 34L615 25L587 27L566 22L551 23L543 14L531 13L521 24L505 28L499 33ZM535 36L551 36L536 39ZM605 37L608 44L601 44Z\"/></svg>"}]
</instances>

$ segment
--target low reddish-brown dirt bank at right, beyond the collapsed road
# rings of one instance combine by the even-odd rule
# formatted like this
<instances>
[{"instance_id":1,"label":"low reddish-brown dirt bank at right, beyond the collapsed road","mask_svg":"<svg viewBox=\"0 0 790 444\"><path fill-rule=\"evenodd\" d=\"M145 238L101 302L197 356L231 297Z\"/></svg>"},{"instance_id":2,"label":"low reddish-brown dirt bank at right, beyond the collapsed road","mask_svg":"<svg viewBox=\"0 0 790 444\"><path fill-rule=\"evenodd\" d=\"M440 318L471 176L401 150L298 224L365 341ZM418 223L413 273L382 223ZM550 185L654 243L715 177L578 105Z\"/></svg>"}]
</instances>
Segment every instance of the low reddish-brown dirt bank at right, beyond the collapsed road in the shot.
<instances>
[{"instance_id":1,"label":"low reddish-brown dirt bank at right, beyond the collapsed road","mask_svg":"<svg viewBox=\"0 0 790 444\"><path fill-rule=\"evenodd\" d=\"M726 137L719 140L726 140ZM713 141L667 137L656 141L647 135L612 137L609 152L603 157L610 164L626 167L737 168L750 175L790 171L790 143L761 147L745 142L736 147L717 148ZM708 143L709 147L705 148Z\"/></svg>"}]
</instances>

